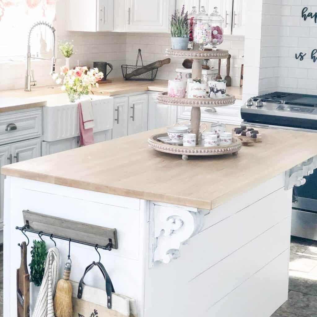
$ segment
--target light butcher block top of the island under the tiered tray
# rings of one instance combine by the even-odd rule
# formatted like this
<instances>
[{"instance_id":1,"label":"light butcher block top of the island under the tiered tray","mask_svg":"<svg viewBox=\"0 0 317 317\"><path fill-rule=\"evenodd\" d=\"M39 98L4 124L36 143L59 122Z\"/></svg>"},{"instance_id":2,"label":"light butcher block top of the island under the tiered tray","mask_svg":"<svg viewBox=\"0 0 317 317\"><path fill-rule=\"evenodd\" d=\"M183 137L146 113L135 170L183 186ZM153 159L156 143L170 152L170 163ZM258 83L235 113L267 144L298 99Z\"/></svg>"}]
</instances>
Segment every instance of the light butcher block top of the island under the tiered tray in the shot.
<instances>
[{"instance_id":1,"label":"light butcher block top of the island under the tiered tray","mask_svg":"<svg viewBox=\"0 0 317 317\"><path fill-rule=\"evenodd\" d=\"M233 126L227 126L231 131ZM157 129L3 166L2 174L103 193L213 209L317 155L317 133L261 129L263 142L238 155L161 153Z\"/></svg>"}]
</instances>

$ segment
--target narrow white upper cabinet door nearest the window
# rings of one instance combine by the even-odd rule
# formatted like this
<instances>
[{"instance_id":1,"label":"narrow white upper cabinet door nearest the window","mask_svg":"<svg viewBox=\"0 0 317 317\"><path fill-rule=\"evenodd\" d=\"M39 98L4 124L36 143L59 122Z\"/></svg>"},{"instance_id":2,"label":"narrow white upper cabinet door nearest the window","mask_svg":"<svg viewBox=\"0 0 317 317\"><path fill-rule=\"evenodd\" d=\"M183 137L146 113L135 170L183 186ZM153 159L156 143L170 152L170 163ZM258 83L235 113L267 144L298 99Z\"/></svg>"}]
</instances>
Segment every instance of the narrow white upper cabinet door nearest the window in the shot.
<instances>
[{"instance_id":1,"label":"narrow white upper cabinet door nearest the window","mask_svg":"<svg viewBox=\"0 0 317 317\"><path fill-rule=\"evenodd\" d=\"M97 0L97 31L113 30L113 0Z\"/></svg>"}]
</instances>

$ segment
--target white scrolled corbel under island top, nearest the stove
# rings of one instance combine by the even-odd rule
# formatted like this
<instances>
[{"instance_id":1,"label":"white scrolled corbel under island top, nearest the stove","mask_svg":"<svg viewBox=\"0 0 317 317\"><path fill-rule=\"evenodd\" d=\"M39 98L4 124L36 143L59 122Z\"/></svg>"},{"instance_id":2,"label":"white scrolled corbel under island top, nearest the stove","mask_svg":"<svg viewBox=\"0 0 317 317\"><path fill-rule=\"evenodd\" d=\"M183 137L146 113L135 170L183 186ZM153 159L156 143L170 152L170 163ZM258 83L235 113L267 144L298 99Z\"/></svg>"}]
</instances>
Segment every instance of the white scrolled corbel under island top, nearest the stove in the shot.
<instances>
[{"instance_id":1,"label":"white scrolled corbel under island top, nearest the stove","mask_svg":"<svg viewBox=\"0 0 317 317\"><path fill-rule=\"evenodd\" d=\"M285 190L289 190L293 188L293 186L298 187L304 185L306 183L304 176L313 174L315 168L317 168L317 156L314 156L286 171Z\"/></svg>"}]
</instances>

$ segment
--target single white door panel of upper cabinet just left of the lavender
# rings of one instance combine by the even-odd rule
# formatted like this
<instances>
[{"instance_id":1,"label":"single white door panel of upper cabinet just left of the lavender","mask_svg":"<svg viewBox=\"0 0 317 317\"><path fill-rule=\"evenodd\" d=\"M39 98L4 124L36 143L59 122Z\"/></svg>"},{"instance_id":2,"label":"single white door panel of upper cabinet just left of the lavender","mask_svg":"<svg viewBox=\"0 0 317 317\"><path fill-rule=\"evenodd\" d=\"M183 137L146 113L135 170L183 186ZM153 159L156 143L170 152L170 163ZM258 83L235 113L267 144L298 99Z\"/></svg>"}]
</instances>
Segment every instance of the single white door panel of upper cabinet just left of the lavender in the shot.
<instances>
[{"instance_id":1,"label":"single white door panel of upper cabinet just left of the lavender","mask_svg":"<svg viewBox=\"0 0 317 317\"><path fill-rule=\"evenodd\" d=\"M127 32L168 32L176 0L126 0Z\"/></svg>"}]
</instances>

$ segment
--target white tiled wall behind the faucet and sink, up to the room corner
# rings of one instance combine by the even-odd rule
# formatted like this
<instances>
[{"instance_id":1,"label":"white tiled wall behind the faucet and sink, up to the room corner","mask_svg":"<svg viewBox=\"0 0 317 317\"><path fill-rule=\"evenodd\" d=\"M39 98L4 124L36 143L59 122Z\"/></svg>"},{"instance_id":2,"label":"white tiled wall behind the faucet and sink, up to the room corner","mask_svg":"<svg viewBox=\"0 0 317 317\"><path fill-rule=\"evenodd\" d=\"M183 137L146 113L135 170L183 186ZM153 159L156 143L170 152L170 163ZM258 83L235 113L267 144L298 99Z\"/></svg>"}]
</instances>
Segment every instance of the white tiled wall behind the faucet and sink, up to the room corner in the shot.
<instances>
[{"instance_id":1,"label":"white tiled wall behind the faucet and sink, up to the room corner","mask_svg":"<svg viewBox=\"0 0 317 317\"><path fill-rule=\"evenodd\" d=\"M114 70L110 78L120 77L122 64L126 62L126 33L90 33L66 31L66 7L64 1L56 3L56 46L57 63L56 70L65 64L64 58L58 52L60 41L72 41L75 53L70 60L70 65L75 66L77 60L81 65L93 66L93 61L107 61L113 64ZM35 34L36 31L34 31ZM25 34L26 36L26 34ZM26 49L26 48L25 48ZM49 55L49 54L48 54ZM46 56L46 57L50 57ZM49 75L50 61L31 61L31 69L34 69L35 79L38 86L54 84ZM25 62L1 62L0 63L0 90L16 89L24 87Z\"/></svg>"}]
</instances>

